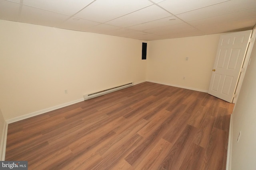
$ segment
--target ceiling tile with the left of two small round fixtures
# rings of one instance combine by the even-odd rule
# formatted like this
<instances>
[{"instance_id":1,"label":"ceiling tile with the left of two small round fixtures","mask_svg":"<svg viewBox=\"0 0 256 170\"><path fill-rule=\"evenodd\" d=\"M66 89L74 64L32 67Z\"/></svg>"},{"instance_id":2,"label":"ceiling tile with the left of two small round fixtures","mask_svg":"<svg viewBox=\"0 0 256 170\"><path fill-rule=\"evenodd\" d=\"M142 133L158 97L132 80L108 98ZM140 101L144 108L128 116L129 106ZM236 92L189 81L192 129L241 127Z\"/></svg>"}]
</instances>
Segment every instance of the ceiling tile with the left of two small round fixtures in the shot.
<instances>
[{"instance_id":1,"label":"ceiling tile with the left of two small round fixtures","mask_svg":"<svg viewBox=\"0 0 256 170\"><path fill-rule=\"evenodd\" d=\"M74 18L70 18L60 25L56 25L58 28L63 29L71 29L71 30L77 30L77 31L86 31L86 28L93 27L95 25L99 25L100 23L94 22L94 21L88 21L84 19L79 20L73 20Z\"/></svg>"}]
</instances>

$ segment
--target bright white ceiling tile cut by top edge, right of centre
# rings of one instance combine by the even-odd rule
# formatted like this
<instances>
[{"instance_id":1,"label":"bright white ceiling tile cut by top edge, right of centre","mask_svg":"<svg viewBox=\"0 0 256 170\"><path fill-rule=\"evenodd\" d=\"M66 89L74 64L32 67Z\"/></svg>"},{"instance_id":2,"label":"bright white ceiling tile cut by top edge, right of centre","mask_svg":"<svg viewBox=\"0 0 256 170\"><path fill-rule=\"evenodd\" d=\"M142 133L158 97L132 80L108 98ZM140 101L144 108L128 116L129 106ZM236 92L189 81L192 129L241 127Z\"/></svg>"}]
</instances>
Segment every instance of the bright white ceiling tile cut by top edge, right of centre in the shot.
<instances>
[{"instance_id":1,"label":"bright white ceiling tile cut by top edge, right of centre","mask_svg":"<svg viewBox=\"0 0 256 170\"><path fill-rule=\"evenodd\" d=\"M172 14L180 14L225 1L228 0L166 0L158 3L158 5Z\"/></svg>"}]
</instances>

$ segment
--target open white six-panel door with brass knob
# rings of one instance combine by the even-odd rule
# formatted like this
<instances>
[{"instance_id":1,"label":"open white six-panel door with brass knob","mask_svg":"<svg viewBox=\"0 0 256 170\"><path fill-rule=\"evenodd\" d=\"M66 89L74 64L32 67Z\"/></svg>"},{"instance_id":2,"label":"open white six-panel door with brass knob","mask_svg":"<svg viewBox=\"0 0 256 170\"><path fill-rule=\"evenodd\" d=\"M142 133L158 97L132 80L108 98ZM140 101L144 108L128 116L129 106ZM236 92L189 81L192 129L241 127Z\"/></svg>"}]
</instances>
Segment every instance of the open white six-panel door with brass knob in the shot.
<instances>
[{"instance_id":1,"label":"open white six-panel door with brass knob","mask_svg":"<svg viewBox=\"0 0 256 170\"><path fill-rule=\"evenodd\" d=\"M232 103L252 30L220 36L208 93Z\"/></svg>"}]
</instances>

